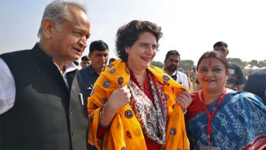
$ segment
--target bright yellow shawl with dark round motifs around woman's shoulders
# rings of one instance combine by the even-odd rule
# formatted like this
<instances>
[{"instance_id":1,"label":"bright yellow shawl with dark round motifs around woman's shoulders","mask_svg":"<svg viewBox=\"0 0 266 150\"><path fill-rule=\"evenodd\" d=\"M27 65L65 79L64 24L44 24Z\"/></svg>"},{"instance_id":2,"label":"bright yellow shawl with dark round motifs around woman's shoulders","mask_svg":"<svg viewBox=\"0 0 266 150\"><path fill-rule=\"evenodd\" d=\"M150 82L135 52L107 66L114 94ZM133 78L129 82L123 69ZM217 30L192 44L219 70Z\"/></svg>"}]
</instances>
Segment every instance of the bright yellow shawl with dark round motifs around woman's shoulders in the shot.
<instances>
[{"instance_id":1,"label":"bright yellow shawl with dark round motifs around woman's shoulders","mask_svg":"<svg viewBox=\"0 0 266 150\"><path fill-rule=\"evenodd\" d=\"M159 67L147 68L158 81L164 83L163 90L168 95L167 111L167 137L165 149L189 149L189 142L186 135L183 110L176 103L176 95L179 95L185 88L168 76ZM99 79L94 83L91 97L87 99L87 110L89 113L89 139L88 142L97 149L146 149L144 134L137 118L125 116L125 111L132 111L129 104L118 110L113 118L110 130L105 133L104 139L97 138L97 127L99 123L100 109L109 99L111 93L118 89L118 79L123 77L121 86L125 86L130 81L130 70L126 63L120 59L110 64L102 72ZM99 108L98 108L99 107ZM133 111L132 111L133 112Z\"/></svg>"}]
</instances>

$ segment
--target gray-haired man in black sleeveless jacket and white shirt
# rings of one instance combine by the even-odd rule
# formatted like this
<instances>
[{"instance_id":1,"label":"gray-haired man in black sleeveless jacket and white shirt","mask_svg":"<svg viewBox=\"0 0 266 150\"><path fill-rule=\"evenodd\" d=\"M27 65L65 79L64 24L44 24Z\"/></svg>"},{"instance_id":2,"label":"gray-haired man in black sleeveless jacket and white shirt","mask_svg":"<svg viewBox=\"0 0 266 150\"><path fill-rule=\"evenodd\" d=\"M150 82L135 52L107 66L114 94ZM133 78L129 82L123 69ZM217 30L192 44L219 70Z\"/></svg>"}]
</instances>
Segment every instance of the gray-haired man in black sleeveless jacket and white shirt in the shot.
<instances>
[{"instance_id":1,"label":"gray-haired man in black sleeveless jacket and white shirt","mask_svg":"<svg viewBox=\"0 0 266 150\"><path fill-rule=\"evenodd\" d=\"M73 64L90 36L85 9L53 1L38 36L31 50L0 55L0 149L85 150L87 106Z\"/></svg>"}]
</instances>

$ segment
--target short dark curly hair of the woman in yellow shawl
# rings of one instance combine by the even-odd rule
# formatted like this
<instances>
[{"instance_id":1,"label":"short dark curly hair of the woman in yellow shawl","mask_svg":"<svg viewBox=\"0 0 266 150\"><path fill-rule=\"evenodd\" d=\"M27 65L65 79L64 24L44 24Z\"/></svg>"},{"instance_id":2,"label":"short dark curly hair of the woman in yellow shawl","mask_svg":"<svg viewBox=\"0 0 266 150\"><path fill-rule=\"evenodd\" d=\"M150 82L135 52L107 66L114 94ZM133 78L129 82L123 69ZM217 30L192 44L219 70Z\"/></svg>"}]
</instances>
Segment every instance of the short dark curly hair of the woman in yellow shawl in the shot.
<instances>
[{"instance_id":1,"label":"short dark curly hair of the woman in yellow shawl","mask_svg":"<svg viewBox=\"0 0 266 150\"><path fill-rule=\"evenodd\" d=\"M139 38L139 34L151 32L158 43L162 37L161 27L148 21L133 20L118 29L116 34L116 53L124 62L127 62L125 46L132 46Z\"/></svg>"}]
</instances>

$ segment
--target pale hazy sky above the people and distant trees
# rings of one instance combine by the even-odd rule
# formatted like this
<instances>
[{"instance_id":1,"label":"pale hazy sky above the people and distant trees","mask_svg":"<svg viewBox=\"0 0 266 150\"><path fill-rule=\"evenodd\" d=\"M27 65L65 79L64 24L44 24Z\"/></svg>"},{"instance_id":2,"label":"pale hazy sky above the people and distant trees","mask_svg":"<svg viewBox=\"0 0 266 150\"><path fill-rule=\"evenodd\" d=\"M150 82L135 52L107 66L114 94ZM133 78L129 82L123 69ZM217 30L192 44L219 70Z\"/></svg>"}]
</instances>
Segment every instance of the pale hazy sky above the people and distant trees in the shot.
<instances>
[{"instance_id":1,"label":"pale hazy sky above the people and distant trees","mask_svg":"<svg viewBox=\"0 0 266 150\"><path fill-rule=\"evenodd\" d=\"M0 0L0 54L32 48L38 41L44 8L51 0ZM91 41L102 39L116 57L118 27L131 20L148 20L162 27L156 61L168 50L195 64L216 41L228 43L228 57L266 60L264 0L87 0ZM87 55L86 48L83 55Z\"/></svg>"}]
</instances>

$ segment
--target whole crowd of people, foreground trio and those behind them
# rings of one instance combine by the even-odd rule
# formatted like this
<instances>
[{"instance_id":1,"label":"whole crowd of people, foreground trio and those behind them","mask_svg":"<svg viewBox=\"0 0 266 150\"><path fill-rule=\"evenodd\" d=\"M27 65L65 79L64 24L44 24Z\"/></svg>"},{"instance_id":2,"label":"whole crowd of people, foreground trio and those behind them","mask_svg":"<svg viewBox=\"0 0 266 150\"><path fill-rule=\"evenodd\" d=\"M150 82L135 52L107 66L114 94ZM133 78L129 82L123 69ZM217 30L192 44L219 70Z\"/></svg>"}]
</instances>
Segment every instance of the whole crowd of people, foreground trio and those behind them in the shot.
<instances>
[{"instance_id":1,"label":"whole crowd of people, foreground trio and those behind them","mask_svg":"<svg viewBox=\"0 0 266 150\"><path fill-rule=\"evenodd\" d=\"M38 37L0 55L0 149L266 149L266 69L246 80L223 41L200 57L190 85L177 50L163 69L151 65L162 38L153 22L118 29L118 59L93 41L82 69L83 5L52 1Z\"/></svg>"}]
</instances>

